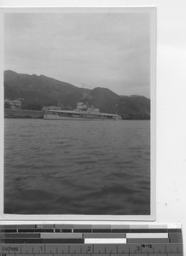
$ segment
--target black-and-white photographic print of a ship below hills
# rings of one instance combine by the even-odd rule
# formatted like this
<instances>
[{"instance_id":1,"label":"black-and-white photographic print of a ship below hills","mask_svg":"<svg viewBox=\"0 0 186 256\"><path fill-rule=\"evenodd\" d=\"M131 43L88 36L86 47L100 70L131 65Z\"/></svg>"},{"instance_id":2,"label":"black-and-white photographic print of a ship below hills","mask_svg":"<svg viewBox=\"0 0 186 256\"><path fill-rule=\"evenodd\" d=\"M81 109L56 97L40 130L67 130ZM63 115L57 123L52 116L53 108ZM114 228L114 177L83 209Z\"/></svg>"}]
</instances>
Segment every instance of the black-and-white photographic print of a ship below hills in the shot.
<instances>
[{"instance_id":1,"label":"black-and-white photographic print of a ship below hills","mask_svg":"<svg viewBox=\"0 0 186 256\"><path fill-rule=\"evenodd\" d=\"M4 214L152 214L154 13L4 12Z\"/></svg>"}]
</instances>

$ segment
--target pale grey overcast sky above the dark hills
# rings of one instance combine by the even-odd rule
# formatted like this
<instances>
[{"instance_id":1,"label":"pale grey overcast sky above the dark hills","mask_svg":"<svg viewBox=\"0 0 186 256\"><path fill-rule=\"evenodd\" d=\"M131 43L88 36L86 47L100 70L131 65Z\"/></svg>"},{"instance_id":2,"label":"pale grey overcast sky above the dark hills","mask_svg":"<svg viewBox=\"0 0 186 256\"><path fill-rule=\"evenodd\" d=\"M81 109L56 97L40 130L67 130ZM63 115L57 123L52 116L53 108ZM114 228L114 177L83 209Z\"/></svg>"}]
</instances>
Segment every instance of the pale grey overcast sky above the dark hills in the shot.
<instances>
[{"instance_id":1,"label":"pale grey overcast sky above the dark hills","mask_svg":"<svg viewBox=\"0 0 186 256\"><path fill-rule=\"evenodd\" d=\"M150 97L147 13L4 15L4 70Z\"/></svg>"}]
</instances>

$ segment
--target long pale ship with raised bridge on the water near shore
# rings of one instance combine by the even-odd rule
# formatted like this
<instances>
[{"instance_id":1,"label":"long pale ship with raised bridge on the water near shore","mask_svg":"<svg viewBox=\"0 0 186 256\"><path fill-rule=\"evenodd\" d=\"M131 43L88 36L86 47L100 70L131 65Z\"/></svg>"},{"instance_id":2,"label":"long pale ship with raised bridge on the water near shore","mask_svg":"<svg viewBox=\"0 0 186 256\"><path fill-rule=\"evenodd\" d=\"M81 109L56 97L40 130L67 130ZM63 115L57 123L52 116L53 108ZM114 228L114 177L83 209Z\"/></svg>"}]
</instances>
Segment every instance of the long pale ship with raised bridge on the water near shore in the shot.
<instances>
[{"instance_id":1,"label":"long pale ship with raised bridge on the water near shore","mask_svg":"<svg viewBox=\"0 0 186 256\"><path fill-rule=\"evenodd\" d=\"M44 111L44 119L55 120L120 120L121 116L114 113L102 113L98 108L88 108L84 102L78 102L74 110L54 110Z\"/></svg>"}]
</instances>

